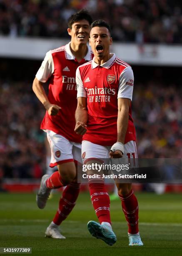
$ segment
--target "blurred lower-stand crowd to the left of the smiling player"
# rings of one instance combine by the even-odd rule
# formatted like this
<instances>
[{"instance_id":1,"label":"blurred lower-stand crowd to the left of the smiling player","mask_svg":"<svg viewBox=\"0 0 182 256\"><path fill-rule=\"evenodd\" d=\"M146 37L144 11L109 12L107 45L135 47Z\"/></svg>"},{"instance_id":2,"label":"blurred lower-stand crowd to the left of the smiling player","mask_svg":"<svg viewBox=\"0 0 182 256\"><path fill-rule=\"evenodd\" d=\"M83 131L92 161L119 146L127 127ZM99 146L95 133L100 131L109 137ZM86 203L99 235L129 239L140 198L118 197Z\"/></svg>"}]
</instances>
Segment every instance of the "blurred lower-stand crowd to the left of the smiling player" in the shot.
<instances>
[{"instance_id":1,"label":"blurred lower-stand crowd to the left of the smiling player","mask_svg":"<svg viewBox=\"0 0 182 256\"><path fill-rule=\"evenodd\" d=\"M26 82L0 83L0 176L39 178L45 169L44 113Z\"/></svg>"}]
</instances>

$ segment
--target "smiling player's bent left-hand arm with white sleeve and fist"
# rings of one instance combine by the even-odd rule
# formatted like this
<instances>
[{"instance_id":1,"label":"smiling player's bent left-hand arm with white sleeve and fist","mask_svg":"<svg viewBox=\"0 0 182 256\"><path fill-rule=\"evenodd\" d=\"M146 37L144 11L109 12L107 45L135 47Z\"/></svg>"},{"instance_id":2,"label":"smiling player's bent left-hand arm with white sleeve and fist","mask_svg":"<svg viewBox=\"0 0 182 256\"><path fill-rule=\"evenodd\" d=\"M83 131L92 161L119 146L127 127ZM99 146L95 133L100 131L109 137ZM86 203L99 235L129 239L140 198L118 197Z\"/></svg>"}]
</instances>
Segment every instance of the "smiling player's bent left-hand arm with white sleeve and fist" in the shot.
<instances>
[{"instance_id":1,"label":"smiling player's bent left-hand arm with white sleeve and fist","mask_svg":"<svg viewBox=\"0 0 182 256\"><path fill-rule=\"evenodd\" d=\"M47 52L45 59L42 61L42 65L38 70L35 79L33 81L32 89L35 92L35 95L44 105L45 109L48 111L49 115L57 115L60 107L55 104L51 104L47 98L47 95L44 90L44 83L49 79L49 77L54 72L54 62L52 59L52 54L50 51Z\"/></svg>"}]
</instances>

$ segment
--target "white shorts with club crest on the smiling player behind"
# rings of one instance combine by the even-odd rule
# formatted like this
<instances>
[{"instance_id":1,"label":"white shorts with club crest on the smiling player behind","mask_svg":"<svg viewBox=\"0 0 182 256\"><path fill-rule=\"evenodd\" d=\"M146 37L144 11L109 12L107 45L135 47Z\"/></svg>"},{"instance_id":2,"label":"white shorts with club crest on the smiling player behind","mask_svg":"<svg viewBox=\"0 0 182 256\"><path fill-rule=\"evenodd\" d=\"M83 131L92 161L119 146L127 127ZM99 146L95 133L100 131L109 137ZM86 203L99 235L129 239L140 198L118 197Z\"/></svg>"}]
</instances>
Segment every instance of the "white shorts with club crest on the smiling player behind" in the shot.
<instances>
[{"instance_id":1,"label":"white shorts with club crest on the smiling player behind","mask_svg":"<svg viewBox=\"0 0 182 256\"><path fill-rule=\"evenodd\" d=\"M82 163L81 143L69 141L50 130L46 130L46 133L51 150L50 167L73 161Z\"/></svg>"}]
</instances>

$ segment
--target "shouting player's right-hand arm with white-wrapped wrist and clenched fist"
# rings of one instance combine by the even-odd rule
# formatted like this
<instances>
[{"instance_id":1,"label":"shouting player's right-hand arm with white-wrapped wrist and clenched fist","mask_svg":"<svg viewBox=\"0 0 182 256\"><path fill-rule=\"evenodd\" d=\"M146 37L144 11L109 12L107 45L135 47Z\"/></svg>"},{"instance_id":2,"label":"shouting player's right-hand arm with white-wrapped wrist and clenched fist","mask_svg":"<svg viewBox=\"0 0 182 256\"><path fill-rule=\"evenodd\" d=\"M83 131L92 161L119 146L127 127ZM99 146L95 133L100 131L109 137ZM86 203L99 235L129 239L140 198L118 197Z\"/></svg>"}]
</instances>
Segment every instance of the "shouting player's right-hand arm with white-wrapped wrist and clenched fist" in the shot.
<instances>
[{"instance_id":1,"label":"shouting player's right-hand arm with white-wrapped wrist and clenched fist","mask_svg":"<svg viewBox=\"0 0 182 256\"><path fill-rule=\"evenodd\" d=\"M120 74L118 89L117 142L110 151L111 158L120 158L124 154L125 136L128 127L129 108L133 93L133 72L127 67Z\"/></svg>"}]
</instances>

